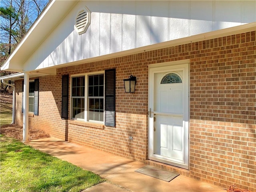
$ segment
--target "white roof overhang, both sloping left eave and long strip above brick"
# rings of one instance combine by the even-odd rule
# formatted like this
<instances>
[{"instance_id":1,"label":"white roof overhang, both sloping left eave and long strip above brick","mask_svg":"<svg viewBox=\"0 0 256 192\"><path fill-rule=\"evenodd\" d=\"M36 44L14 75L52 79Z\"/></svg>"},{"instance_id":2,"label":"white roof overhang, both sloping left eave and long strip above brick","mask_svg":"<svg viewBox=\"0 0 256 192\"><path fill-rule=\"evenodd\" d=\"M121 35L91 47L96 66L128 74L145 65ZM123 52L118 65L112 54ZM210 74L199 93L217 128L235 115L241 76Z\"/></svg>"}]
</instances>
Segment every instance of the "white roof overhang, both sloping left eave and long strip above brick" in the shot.
<instances>
[{"instance_id":1,"label":"white roof overhang, both sloping left eave and long strip above brick","mask_svg":"<svg viewBox=\"0 0 256 192\"><path fill-rule=\"evenodd\" d=\"M12 52L9 58L5 61L1 70L13 71L13 72L24 72L23 64L28 59L28 57L33 54L34 50L47 38L47 36L54 30L54 28L62 21L68 10L71 10L73 6L76 5L77 0L52 0L42 12L38 20L30 28L26 36L22 39L17 48ZM61 9L60 9L61 7ZM50 22L49 22L50 21ZM127 56L130 54L137 54L142 52L147 52L151 50L157 50L161 48L168 48L171 46L177 46L182 44L188 44L192 42L198 42L202 40L210 40L213 38L219 38L223 36L230 36L234 34L240 34L256 30L256 22L243 24L240 26L235 26L231 28L225 28L221 30L216 30L213 32L206 32L202 34L197 34L189 37L179 38L175 40L170 40L158 44L148 45L140 48L134 48L131 50L116 52L112 54L107 54L103 56L97 56L94 58L87 58L84 60L78 60L66 64L60 64L52 66L49 68L44 68L48 72L42 72L43 74L54 74L56 73L56 68L71 66L76 64L83 64L87 62L94 62L97 60L104 60L109 58L116 58L120 56ZM53 70L54 69L54 70ZM53 71L51 71L53 70ZM36 70L34 71L36 72ZM40 72L39 72L40 73Z\"/></svg>"}]
</instances>

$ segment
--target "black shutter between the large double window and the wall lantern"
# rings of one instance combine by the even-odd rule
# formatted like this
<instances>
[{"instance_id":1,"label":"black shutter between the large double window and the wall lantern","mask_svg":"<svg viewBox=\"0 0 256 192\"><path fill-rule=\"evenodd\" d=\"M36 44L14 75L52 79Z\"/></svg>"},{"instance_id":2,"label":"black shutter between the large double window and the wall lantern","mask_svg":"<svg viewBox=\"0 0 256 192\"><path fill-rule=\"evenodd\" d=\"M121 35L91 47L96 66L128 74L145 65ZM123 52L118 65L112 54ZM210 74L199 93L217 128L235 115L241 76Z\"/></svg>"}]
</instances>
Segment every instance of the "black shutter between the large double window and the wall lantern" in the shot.
<instances>
[{"instance_id":1,"label":"black shutter between the large double window and the wall lantern","mask_svg":"<svg viewBox=\"0 0 256 192\"><path fill-rule=\"evenodd\" d=\"M105 70L105 125L115 126L116 69Z\"/></svg>"}]
</instances>

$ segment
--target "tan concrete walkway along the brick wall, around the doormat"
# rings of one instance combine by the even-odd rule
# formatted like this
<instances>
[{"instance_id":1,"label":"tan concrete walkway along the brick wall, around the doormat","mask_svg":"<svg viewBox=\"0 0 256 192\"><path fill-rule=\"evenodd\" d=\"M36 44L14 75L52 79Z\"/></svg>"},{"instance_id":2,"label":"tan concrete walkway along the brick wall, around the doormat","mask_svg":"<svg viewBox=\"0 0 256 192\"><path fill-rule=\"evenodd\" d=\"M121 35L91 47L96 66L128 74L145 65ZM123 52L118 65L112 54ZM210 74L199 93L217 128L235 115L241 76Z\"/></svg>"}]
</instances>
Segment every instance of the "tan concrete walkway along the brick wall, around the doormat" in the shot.
<instances>
[{"instance_id":1,"label":"tan concrete walkway along the brick wall, around the doormat","mask_svg":"<svg viewBox=\"0 0 256 192\"><path fill-rule=\"evenodd\" d=\"M106 178L84 192L225 192L223 188L179 175L170 182L153 178L135 170L145 166L100 150L80 146L56 138L44 138L26 144L66 160Z\"/></svg>"}]
</instances>

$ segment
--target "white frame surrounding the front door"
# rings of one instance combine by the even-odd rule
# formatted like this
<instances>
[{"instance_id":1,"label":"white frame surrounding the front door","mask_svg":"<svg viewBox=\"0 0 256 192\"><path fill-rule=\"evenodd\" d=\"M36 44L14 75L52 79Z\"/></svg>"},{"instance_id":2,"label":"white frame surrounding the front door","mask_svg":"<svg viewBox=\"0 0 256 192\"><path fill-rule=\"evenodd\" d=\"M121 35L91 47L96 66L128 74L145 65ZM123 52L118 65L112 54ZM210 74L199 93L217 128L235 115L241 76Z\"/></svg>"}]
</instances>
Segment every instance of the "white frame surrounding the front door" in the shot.
<instances>
[{"instance_id":1,"label":"white frame surrounding the front door","mask_svg":"<svg viewBox=\"0 0 256 192\"><path fill-rule=\"evenodd\" d=\"M180 168L189 169L189 63L190 60L166 62L148 65L148 159L163 162ZM171 70L184 70L184 121L185 153L184 163L172 162L170 159L154 154L154 74Z\"/></svg>"}]
</instances>

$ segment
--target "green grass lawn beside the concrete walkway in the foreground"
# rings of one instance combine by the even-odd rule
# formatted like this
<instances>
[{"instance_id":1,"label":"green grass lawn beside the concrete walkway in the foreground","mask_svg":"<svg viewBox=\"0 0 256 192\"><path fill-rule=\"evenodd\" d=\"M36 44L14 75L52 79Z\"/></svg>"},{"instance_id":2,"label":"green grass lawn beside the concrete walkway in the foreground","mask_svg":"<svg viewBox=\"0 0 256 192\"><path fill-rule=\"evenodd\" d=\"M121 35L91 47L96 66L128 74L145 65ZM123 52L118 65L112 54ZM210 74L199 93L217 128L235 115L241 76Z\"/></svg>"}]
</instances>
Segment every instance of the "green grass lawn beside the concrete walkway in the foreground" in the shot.
<instances>
[{"instance_id":1,"label":"green grass lawn beside the concrete walkway in the foreground","mask_svg":"<svg viewBox=\"0 0 256 192\"><path fill-rule=\"evenodd\" d=\"M99 175L0 135L1 192L80 192Z\"/></svg>"}]
</instances>

